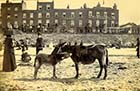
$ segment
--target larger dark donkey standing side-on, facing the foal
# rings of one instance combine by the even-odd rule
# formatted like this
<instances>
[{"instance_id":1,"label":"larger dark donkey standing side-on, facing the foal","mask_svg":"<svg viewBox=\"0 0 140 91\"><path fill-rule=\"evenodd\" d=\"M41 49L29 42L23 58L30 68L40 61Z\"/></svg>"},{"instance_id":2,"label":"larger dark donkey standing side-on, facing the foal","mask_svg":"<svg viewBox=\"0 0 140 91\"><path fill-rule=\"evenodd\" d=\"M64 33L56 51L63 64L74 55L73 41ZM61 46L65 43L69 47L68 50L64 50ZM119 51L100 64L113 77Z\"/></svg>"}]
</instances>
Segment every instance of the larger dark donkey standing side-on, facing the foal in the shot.
<instances>
[{"instance_id":1,"label":"larger dark donkey standing side-on, facing the foal","mask_svg":"<svg viewBox=\"0 0 140 91\"><path fill-rule=\"evenodd\" d=\"M103 79L107 77L107 66L109 63L108 60L108 50L104 45L90 45L90 46L83 46L83 45L65 45L61 48L62 52L72 53L71 59L75 63L76 69L76 76L75 78L79 77L79 67L78 64L81 62L82 64L91 64L96 59L98 59L100 65L100 72L97 78L100 78L102 74L102 70L105 70L105 74Z\"/></svg>"}]
</instances>

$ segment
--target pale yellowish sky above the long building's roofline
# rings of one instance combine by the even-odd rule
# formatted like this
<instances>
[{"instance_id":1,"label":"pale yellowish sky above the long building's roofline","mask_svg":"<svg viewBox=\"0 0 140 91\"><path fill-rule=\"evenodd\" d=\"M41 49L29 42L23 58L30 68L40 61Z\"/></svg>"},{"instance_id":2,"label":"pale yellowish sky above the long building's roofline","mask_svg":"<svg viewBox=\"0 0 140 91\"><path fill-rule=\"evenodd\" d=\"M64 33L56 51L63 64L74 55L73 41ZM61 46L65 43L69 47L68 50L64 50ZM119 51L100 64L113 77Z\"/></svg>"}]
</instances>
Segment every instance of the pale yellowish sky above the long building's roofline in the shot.
<instances>
[{"instance_id":1,"label":"pale yellowish sky above the long building's roofline","mask_svg":"<svg viewBox=\"0 0 140 91\"><path fill-rule=\"evenodd\" d=\"M0 0L5 2L6 0ZM11 2L20 2L21 0L9 0ZM36 7L37 0L24 0L27 3L28 9L34 9ZM40 2L50 2L52 0L39 0ZM104 5L103 5L104 1ZM114 3L117 4L119 9L119 23L120 25L133 22L140 24L140 0L54 0L55 8L66 8L69 4L70 8L80 8L84 3L87 7L92 8L100 2L101 6L112 7Z\"/></svg>"}]
</instances>

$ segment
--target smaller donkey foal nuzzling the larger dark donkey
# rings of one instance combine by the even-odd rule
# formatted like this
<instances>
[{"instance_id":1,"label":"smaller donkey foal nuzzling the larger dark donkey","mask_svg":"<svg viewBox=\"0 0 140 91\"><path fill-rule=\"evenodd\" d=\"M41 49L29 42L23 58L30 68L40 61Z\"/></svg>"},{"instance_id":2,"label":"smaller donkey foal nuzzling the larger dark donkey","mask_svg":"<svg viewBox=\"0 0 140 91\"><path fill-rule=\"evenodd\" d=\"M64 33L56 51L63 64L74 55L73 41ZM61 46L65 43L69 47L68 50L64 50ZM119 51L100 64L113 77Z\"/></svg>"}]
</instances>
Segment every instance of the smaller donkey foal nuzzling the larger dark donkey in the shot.
<instances>
[{"instance_id":1,"label":"smaller donkey foal nuzzling the larger dark donkey","mask_svg":"<svg viewBox=\"0 0 140 91\"><path fill-rule=\"evenodd\" d=\"M61 53L60 48L63 46L66 42L58 44L52 53L50 55L40 53L35 57L35 63L34 63L34 79L37 77L37 72L42 64L50 64L53 66L53 78L57 78L55 74L55 65L62 61L65 58L68 58L70 55L69 53L63 52Z\"/></svg>"}]
</instances>

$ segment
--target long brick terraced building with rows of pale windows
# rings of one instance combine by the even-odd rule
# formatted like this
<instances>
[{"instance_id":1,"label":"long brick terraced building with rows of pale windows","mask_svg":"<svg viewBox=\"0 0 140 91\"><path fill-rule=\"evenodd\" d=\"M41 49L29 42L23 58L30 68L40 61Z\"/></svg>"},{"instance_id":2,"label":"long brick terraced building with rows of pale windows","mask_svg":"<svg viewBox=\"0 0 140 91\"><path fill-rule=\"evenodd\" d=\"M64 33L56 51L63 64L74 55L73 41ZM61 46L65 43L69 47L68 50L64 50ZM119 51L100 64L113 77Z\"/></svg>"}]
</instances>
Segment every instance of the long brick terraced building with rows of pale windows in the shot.
<instances>
[{"instance_id":1,"label":"long brick terraced building with rows of pale windows","mask_svg":"<svg viewBox=\"0 0 140 91\"><path fill-rule=\"evenodd\" d=\"M100 3L93 8L88 8L86 4L79 9L55 9L54 1L37 2L36 10L24 9L26 2L11 3L7 0L1 5L2 28L7 28L9 24L14 28L28 26L30 28L41 24L43 28L57 29L62 32L93 32L99 28L117 27L119 25L119 10L117 5L113 7L102 7ZM85 26L90 29L85 31Z\"/></svg>"}]
</instances>

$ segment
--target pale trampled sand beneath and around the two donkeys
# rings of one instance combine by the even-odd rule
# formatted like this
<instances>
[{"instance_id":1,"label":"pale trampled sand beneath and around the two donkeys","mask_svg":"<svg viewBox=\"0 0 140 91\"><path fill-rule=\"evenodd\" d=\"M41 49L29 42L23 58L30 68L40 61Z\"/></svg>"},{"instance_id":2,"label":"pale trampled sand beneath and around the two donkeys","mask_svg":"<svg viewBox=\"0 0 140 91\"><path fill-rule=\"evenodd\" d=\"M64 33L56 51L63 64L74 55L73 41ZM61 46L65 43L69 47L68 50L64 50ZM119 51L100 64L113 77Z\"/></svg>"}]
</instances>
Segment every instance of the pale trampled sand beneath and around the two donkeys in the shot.
<instances>
[{"instance_id":1,"label":"pale trampled sand beneath and around the two donkeys","mask_svg":"<svg viewBox=\"0 0 140 91\"><path fill-rule=\"evenodd\" d=\"M15 50L17 69L14 72L2 72L2 54L0 54L0 91L140 91L140 59L136 58L134 48L109 48L108 77L103 80L96 76L99 72L98 61L90 65L79 64L80 77L74 79L75 67L71 58L56 66L58 79L52 77L52 66L42 65L37 80L33 79L35 48L29 48L32 56L30 63L22 63L21 50ZM51 48L42 52L49 54Z\"/></svg>"}]
</instances>

